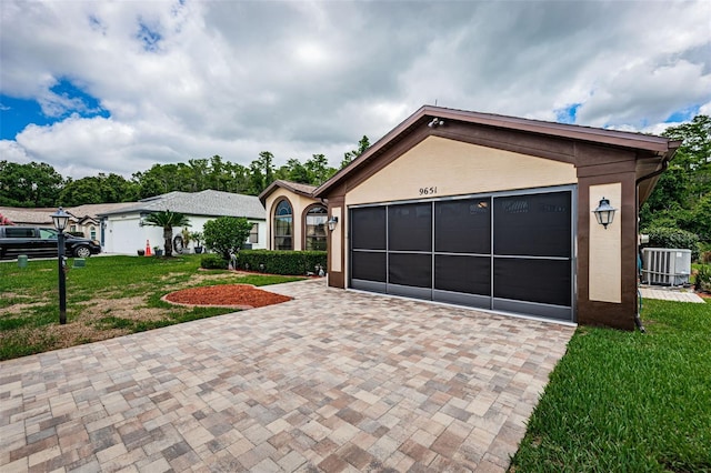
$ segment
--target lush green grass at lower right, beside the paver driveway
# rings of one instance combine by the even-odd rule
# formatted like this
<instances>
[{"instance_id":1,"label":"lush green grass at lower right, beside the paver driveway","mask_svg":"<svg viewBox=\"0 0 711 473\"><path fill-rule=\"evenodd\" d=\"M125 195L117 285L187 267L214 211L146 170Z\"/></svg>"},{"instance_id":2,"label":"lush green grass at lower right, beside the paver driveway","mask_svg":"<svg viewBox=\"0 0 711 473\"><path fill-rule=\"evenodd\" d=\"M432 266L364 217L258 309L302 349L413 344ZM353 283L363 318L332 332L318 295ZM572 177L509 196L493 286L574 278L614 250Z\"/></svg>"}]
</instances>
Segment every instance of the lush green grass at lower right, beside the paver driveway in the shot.
<instances>
[{"instance_id":1,"label":"lush green grass at lower right, beside the paver driveway","mask_svg":"<svg viewBox=\"0 0 711 473\"><path fill-rule=\"evenodd\" d=\"M711 472L711 304L644 301L647 334L579 328L513 472Z\"/></svg>"}]
</instances>

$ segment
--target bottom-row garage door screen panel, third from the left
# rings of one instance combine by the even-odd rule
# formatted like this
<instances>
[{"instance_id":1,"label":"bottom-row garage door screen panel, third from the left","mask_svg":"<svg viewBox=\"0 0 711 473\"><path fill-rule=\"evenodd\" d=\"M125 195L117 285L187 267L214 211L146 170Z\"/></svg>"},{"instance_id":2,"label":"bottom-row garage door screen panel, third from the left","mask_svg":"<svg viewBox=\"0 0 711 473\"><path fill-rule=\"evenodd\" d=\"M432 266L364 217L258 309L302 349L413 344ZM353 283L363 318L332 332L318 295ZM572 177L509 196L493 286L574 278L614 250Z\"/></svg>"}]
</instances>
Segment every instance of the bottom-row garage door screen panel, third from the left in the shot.
<instances>
[{"instance_id":1,"label":"bottom-row garage door screen panel, third from the left","mask_svg":"<svg viewBox=\"0 0 711 473\"><path fill-rule=\"evenodd\" d=\"M467 294L491 294L491 258L434 256L434 289Z\"/></svg>"}]
</instances>

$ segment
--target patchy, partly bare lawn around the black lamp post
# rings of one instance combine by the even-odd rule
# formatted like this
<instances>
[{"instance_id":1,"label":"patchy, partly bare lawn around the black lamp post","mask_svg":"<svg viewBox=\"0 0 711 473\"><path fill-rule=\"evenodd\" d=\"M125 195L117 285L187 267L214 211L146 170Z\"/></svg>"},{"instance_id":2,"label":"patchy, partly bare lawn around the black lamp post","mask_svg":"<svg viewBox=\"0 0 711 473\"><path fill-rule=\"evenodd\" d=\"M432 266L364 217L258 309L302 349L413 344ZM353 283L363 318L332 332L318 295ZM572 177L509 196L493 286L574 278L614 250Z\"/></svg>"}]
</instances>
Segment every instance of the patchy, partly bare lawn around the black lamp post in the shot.
<instances>
[{"instance_id":1,"label":"patchy, partly bare lawn around the black lamp post","mask_svg":"<svg viewBox=\"0 0 711 473\"><path fill-rule=\"evenodd\" d=\"M200 255L172 259L101 256L67 273L67 324L59 325L57 260L28 268L0 262L0 360L234 312L186 308L160 299L179 289L214 284L254 285L303 278L199 271ZM71 268L73 260L68 260Z\"/></svg>"}]
</instances>

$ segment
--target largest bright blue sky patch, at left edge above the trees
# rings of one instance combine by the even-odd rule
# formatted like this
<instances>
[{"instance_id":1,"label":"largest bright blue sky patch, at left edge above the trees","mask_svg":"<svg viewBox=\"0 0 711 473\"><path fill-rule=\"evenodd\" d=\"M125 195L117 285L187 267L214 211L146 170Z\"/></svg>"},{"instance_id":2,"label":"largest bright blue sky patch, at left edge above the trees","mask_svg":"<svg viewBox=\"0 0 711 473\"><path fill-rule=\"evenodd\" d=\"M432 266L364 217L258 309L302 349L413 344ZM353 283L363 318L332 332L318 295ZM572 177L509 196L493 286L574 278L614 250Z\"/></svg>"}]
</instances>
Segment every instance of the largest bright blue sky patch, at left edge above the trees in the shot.
<instances>
[{"instance_id":1,"label":"largest bright blue sky patch, at left edge above the trees","mask_svg":"<svg viewBox=\"0 0 711 473\"><path fill-rule=\"evenodd\" d=\"M46 97L17 99L0 94L0 139L14 140L28 124L43 127L57 123L72 114L82 118L111 114L101 107L99 99L84 92L70 80L61 79Z\"/></svg>"}]
</instances>

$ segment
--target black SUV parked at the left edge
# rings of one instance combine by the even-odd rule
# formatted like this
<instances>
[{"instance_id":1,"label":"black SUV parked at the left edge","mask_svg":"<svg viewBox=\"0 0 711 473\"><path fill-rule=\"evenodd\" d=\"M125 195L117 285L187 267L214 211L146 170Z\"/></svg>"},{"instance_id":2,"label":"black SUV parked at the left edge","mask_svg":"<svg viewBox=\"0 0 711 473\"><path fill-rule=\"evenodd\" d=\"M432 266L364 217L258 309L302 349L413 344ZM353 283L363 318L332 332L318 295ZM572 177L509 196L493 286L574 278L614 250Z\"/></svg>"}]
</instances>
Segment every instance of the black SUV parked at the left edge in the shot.
<instances>
[{"instance_id":1,"label":"black SUV parked at the left edge","mask_svg":"<svg viewBox=\"0 0 711 473\"><path fill-rule=\"evenodd\" d=\"M0 260L20 254L28 258L57 256L57 230L42 227L0 227ZM101 253L101 245L86 238L64 233L64 254L88 258Z\"/></svg>"}]
</instances>

